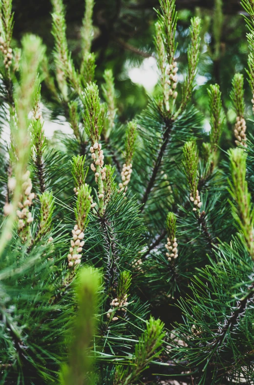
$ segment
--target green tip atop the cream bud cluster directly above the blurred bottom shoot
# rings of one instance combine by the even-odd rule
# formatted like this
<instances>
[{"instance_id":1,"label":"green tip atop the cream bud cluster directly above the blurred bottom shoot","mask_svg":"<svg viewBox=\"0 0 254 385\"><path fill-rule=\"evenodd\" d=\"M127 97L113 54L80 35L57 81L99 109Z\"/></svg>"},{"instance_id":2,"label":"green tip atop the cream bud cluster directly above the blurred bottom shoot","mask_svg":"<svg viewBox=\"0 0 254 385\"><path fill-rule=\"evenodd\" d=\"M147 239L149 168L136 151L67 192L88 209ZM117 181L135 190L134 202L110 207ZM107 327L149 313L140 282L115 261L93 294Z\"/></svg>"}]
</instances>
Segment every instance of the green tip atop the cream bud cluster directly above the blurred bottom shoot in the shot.
<instances>
[{"instance_id":1,"label":"green tip atop the cream bud cluster directly above the blurred bottom shoot","mask_svg":"<svg viewBox=\"0 0 254 385\"><path fill-rule=\"evenodd\" d=\"M78 190L78 199L76 207L74 207L74 213L76 223L81 231L84 231L88 225L88 214L91 208L90 194L91 188L87 184L83 184Z\"/></svg>"}]
</instances>

